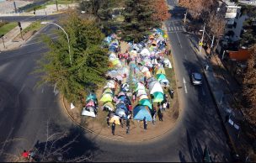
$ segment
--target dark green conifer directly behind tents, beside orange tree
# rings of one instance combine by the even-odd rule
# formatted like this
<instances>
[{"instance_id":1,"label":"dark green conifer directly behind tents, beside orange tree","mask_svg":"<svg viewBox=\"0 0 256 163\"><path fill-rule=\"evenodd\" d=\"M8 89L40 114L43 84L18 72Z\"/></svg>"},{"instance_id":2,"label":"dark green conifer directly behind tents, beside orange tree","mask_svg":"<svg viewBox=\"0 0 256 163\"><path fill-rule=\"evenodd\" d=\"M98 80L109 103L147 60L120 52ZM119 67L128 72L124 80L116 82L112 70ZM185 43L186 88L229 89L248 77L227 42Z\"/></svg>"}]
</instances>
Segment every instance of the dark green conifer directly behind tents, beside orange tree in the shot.
<instances>
[{"instance_id":1,"label":"dark green conifer directly behind tents, beside orange tree","mask_svg":"<svg viewBox=\"0 0 256 163\"><path fill-rule=\"evenodd\" d=\"M139 42L150 29L159 26L159 22L152 19L153 12L152 0L125 0L121 37L125 41Z\"/></svg>"}]
</instances>

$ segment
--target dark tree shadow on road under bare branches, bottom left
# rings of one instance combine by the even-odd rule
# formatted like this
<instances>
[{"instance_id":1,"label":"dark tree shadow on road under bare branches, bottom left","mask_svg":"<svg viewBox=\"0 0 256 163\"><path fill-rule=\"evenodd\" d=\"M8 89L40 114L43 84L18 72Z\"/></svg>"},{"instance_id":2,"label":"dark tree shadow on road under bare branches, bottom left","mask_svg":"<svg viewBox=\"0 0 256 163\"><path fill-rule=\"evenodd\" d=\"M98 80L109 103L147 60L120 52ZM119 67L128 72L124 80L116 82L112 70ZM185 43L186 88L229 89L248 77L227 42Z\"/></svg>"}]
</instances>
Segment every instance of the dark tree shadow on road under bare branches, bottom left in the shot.
<instances>
[{"instance_id":1,"label":"dark tree shadow on road under bare branches, bottom left","mask_svg":"<svg viewBox=\"0 0 256 163\"><path fill-rule=\"evenodd\" d=\"M72 127L64 132L56 131L47 140L38 140L34 146L39 161L92 161L99 148L86 138L83 129Z\"/></svg>"}]
</instances>

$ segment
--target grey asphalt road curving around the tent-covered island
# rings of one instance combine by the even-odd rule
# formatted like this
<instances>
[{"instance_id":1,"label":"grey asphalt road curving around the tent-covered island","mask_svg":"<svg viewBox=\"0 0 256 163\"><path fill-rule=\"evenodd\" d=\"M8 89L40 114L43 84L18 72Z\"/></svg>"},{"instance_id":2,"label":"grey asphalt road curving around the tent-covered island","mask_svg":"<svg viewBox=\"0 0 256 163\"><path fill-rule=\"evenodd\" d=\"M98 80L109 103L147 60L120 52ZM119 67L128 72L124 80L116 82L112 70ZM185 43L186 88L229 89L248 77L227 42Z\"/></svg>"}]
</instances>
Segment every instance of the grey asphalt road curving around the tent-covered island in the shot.
<instances>
[{"instance_id":1,"label":"grey asphalt road curving around the tent-covered island","mask_svg":"<svg viewBox=\"0 0 256 163\"><path fill-rule=\"evenodd\" d=\"M3 98L0 101L0 129L3 131L0 157L3 158L4 153L19 153L35 144L45 145L46 124L50 122L49 133L69 130L72 136L80 134L72 146L72 154L93 152L95 161L202 161L206 145L211 155L217 153L220 158L224 155L229 160L227 138L205 79L202 87L189 83L189 71L200 71L200 65L179 21L179 15L168 21L174 66L181 87L178 90L181 113L172 131L159 139L135 144L81 134L61 111L53 87L35 87L39 79L31 72L47 51L35 37L19 50L0 54L0 91L4 92L0 95ZM46 27L42 32L51 34L50 29Z\"/></svg>"}]
</instances>

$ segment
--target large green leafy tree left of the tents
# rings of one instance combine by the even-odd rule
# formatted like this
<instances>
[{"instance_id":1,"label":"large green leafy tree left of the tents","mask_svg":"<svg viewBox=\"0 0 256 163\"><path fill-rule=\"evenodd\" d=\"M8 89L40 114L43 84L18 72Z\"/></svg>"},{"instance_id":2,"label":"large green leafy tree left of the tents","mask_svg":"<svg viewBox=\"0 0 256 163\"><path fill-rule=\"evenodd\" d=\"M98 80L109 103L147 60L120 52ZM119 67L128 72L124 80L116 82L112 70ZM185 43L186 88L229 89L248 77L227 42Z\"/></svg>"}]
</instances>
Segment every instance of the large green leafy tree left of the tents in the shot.
<instances>
[{"instance_id":1,"label":"large green leafy tree left of the tents","mask_svg":"<svg viewBox=\"0 0 256 163\"><path fill-rule=\"evenodd\" d=\"M69 13L61 22L70 38L72 65L70 65L67 37L58 31L59 39L45 38L50 51L40 61L36 71L40 83L56 84L56 88L72 103L81 103L90 90L105 81L109 60L107 50L100 48L104 34L93 21L81 20Z\"/></svg>"}]
</instances>

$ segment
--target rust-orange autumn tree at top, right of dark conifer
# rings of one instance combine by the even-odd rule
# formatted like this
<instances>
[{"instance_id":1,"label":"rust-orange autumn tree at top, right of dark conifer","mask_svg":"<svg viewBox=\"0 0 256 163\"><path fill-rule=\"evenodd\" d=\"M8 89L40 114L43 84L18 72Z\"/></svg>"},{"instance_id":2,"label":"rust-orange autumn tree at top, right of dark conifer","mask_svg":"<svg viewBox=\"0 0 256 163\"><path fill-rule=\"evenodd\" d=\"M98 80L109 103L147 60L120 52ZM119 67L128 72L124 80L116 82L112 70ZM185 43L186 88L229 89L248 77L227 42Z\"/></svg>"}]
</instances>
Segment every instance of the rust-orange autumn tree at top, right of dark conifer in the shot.
<instances>
[{"instance_id":1,"label":"rust-orange autumn tree at top, right of dark conifer","mask_svg":"<svg viewBox=\"0 0 256 163\"><path fill-rule=\"evenodd\" d=\"M152 1L152 8L154 9L152 18L155 21L165 21L171 16L168 12L168 5L165 0Z\"/></svg>"}]
</instances>

